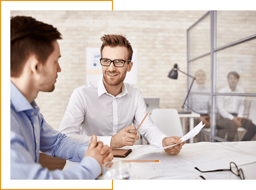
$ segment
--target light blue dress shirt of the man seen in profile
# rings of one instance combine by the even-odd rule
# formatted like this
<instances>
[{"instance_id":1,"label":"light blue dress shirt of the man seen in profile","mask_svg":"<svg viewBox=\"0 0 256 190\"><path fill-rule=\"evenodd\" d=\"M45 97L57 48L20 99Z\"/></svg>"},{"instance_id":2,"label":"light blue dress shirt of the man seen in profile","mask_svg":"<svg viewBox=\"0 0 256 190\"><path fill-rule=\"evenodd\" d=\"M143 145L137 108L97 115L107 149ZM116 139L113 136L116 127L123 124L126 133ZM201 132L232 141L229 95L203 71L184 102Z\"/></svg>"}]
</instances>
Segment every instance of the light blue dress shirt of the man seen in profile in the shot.
<instances>
[{"instance_id":1,"label":"light blue dress shirt of the man seen in profile","mask_svg":"<svg viewBox=\"0 0 256 190\"><path fill-rule=\"evenodd\" d=\"M79 143L55 131L10 82L10 179L11 180L94 180L101 173L93 157L84 157L88 144ZM38 163L39 151L80 162L67 170L49 171Z\"/></svg>"}]
</instances>

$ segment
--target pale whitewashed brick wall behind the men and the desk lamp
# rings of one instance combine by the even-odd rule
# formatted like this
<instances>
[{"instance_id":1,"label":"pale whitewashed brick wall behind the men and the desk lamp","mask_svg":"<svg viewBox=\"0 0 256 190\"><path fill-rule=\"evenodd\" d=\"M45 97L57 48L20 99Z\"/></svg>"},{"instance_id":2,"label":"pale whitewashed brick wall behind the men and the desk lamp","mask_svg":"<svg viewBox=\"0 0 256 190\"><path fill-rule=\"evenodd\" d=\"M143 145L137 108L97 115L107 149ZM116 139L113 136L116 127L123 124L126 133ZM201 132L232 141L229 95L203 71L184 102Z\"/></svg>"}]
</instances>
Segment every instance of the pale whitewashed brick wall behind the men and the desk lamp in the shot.
<instances>
[{"instance_id":1,"label":"pale whitewashed brick wall behind the men and the desk lamp","mask_svg":"<svg viewBox=\"0 0 256 190\"><path fill-rule=\"evenodd\" d=\"M214 27L211 14L208 10L10 11L10 16L32 16L51 24L63 35L59 40L62 71L55 90L40 92L36 99L40 112L55 130L59 129L73 90L85 85L88 75L93 74L93 70L88 71L86 48L100 48L104 34L126 35L137 51L131 70L136 71L137 80L132 85L144 97L159 97L159 108L182 110L191 80L182 73L177 80L167 77L177 63L180 70L192 76L196 70L204 70L206 85L213 92L227 85L229 71L237 71L241 76L238 85L247 94L244 117L248 117L250 103L256 101L256 11L215 11ZM195 23L187 36L187 29ZM211 49L211 31L216 34L214 48L225 48ZM234 42L238 43L232 45ZM216 97L213 93L206 95Z\"/></svg>"}]
</instances>

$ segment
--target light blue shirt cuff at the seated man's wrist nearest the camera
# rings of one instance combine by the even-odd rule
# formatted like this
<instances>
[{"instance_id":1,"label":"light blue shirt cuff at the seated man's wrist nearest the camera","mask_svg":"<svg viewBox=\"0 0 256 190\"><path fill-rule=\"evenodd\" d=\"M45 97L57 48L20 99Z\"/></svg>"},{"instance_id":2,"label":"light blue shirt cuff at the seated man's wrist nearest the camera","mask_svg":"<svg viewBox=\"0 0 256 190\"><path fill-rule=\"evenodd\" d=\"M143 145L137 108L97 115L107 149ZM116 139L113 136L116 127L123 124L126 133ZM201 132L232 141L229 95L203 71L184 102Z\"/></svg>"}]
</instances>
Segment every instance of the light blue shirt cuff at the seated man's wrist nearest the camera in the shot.
<instances>
[{"instance_id":1,"label":"light blue shirt cuff at the seated man's wrist nearest the camera","mask_svg":"<svg viewBox=\"0 0 256 190\"><path fill-rule=\"evenodd\" d=\"M89 180L95 180L100 174L101 174L101 167L99 162L91 157L91 156L86 156L83 158L83 160L80 162L80 165L84 166L91 172L91 179Z\"/></svg>"}]
</instances>

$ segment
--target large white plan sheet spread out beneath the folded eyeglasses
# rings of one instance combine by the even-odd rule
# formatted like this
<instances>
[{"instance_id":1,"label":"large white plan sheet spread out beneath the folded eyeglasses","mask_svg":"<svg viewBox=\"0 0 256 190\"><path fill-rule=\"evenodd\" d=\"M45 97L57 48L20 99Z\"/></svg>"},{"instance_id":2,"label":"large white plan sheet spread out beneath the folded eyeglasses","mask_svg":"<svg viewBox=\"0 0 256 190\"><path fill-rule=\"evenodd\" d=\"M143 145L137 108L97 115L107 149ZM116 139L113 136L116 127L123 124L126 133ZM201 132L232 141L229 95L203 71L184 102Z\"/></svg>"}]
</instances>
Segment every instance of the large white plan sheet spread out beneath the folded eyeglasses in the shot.
<instances>
[{"instance_id":1,"label":"large white plan sheet spread out beneath the folded eyeglasses","mask_svg":"<svg viewBox=\"0 0 256 190\"><path fill-rule=\"evenodd\" d=\"M134 149L131 154L139 153L140 149L144 148ZM128 159L130 160L130 158ZM196 179L200 175L203 175L206 179L221 179L219 176L222 175L222 172L216 172L216 178L214 176L209 177L204 175L205 173L197 171L195 167L202 171L228 169L229 163L235 162L239 166L238 168L240 168L243 164L255 162L256 156L227 147L222 143L200 142L185 144L177 155L171 155L161 150L145 155L141 160L161 160L161 162L131 162L133 166L132 171L140 180L154 179L155 177L162 178L163 176L170 179L177 176L180 179ZM213 175L212 172L210 173ZM185 178L188 174L191 176ZM222 179L228 180L229 178L233 179L233 177L236 179L232 172L226 171L223 174L227 178ZM255 180L255 172L251 177L248 176L249 173L244 172L244 174L246 179Z\"/></svg>"}]
</instances>

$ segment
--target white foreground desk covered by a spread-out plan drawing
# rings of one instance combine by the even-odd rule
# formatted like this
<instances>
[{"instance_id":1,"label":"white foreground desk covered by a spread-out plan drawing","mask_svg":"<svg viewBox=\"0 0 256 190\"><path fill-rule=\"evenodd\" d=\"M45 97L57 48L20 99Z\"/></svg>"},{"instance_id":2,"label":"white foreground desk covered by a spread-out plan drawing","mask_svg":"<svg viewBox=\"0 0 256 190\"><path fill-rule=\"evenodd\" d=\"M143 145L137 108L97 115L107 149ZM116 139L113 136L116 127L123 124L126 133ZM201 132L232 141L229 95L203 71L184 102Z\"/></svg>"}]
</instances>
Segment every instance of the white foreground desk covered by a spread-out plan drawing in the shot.
<instances>
[{"instance_id":1,"label":"white foreground desk covered by a spread-out plan drawing","mask_svg":"<svg viewBox=\"0 0 256 190\"><path fill-rule=\"evenodd\" d=\"M151 145L133 145L124 148L131 148L133 151L126 158L114 158L113 162L120 160L131 160L130 157L144 150L148 150ZM210 148L208 148L210 147ZM213 154L211 151L216 151L218 147L223 152ZM225 172L209 172L201 173L194 169L198 167L202 171L208 169L229 169L229 162L235 162L238 168L242 168L246 180L256 180L256 141L246 142L222 142L222 143L187 143L183 146L181 152L177 155L169 155L165 152L152 153L147 155L151 160L155 160L155 156L162 155L167 161L161 162L130 162L131 167L131 180L202 180L200 175L204 176L207 180L238 180L240 179L230 171ZM204 148L207 148L204 150ZM192 152L191 152L192 151ZM218 150L219 151L219 150ZM241 152L243 151L243 152ZM202 154L204 153L204 154ZM193 155L194 154L194 155ZM195 156L195 155L198 156ZM200 155L201 154L201 155ZM163 157L164 155L164 157ZM188 157L188 155L190 157ZM217 155L217 156L216 156ZM220 156L223 156L221 158ZM212 160L212 158L215 158ZM148 160L146 157L141 157L141 160ZM161 160L161 158L160 158ZM204 160L204 163L202 162ZM189 162L194 163L189 163ZM201 161L201 163L200 163ZM172 168L154 168L158 167L157 164L175 163L176 166ZM246 164L243 164L246 163ZM70 168L78 162L67 161L64 170ZM178 164L178 165L177 165ZM186 165L187 164L187 165ZM225 167L224 167L225 166ZM219 168L221 167L221 168ZM100 179L100 177L99 177Z\"/></svg>"}]
</instances>

